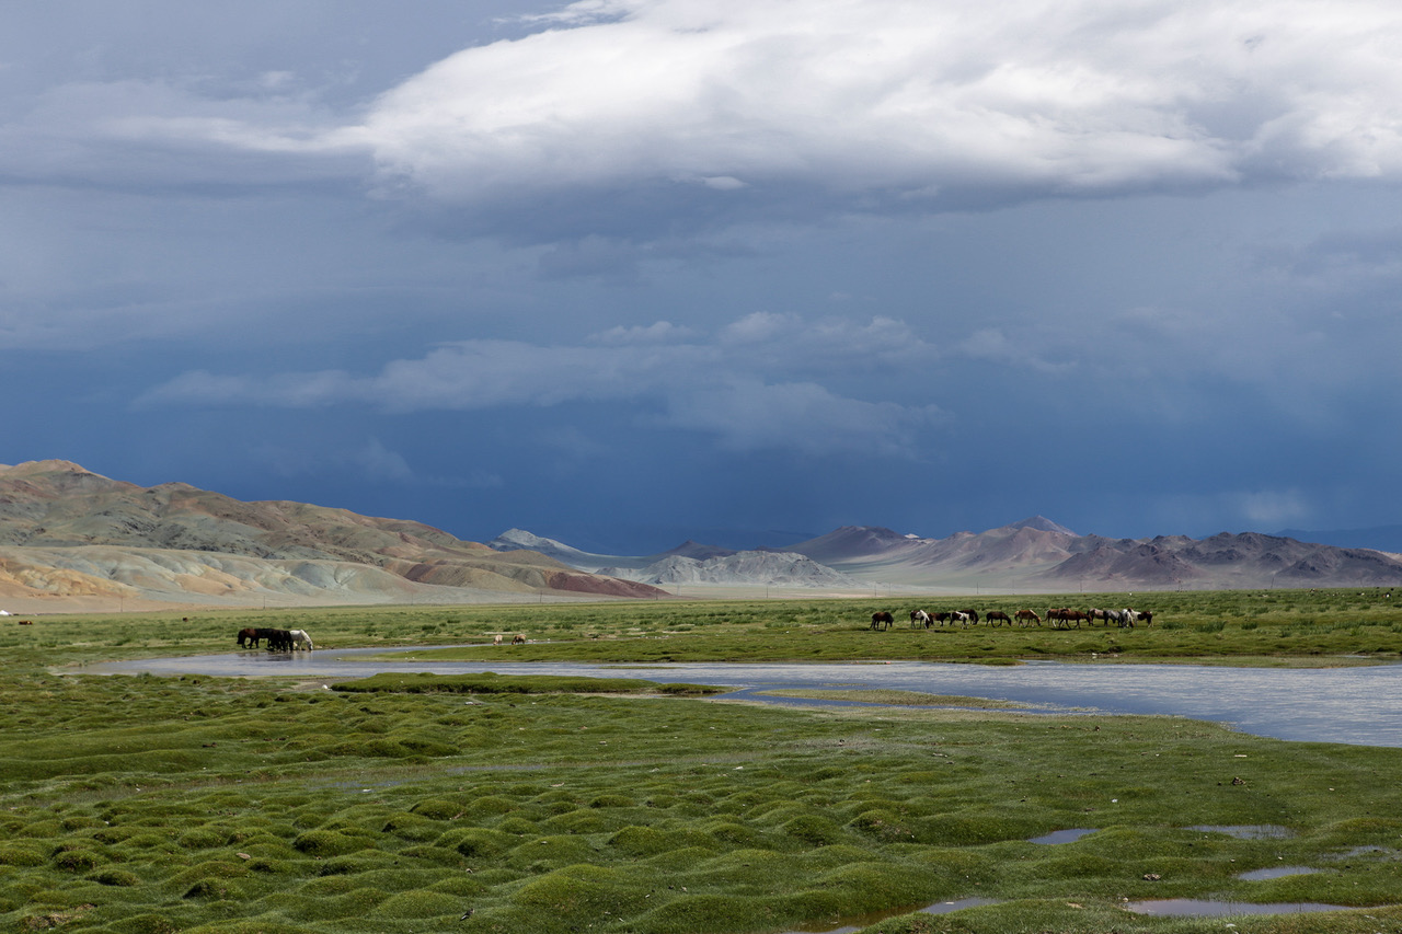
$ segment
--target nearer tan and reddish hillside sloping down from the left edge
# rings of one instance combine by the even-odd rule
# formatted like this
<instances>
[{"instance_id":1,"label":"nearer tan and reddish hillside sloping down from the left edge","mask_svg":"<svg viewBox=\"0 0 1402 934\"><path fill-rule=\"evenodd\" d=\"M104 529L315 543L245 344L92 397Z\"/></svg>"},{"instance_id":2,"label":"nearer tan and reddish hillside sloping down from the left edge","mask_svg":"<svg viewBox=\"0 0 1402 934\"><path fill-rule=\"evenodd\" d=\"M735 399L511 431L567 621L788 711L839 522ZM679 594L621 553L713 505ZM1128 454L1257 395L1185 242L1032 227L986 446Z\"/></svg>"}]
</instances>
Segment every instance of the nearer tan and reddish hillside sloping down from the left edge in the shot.
<instances>
[{"instance_id":1,"label":"nearer tan and reddish hillside sloping down from the left edge","mask_svg":"<svg viewBox=\"0 0 1402 934\"><path fill-rule=\"evenodd\" d=\"M419 522L243 502L178 482L144 488L60 460L0 466L0 595L11 599L451 602L492 593L665 596Z\"/></svg>"}]
</instances>

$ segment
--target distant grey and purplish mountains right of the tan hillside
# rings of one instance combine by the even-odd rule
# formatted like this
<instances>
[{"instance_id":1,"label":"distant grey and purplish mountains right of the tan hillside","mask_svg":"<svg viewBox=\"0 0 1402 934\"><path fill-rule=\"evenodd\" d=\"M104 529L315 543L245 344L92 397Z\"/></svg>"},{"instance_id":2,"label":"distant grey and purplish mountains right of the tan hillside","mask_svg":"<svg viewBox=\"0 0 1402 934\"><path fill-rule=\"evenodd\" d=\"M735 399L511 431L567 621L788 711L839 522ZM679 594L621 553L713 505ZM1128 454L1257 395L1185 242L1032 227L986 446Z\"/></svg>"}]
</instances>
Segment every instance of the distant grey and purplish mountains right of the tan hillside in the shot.
<instances>
[{"instance_id":1,"label":"distant grey and purplish mountains right of the tan hillside","mask_svg":"<svg viewBox=\"0 0 1402 934\"><path fill-rule=\"evenodd\" d=\"M1371 548L1311 544L1255 532L1209 539L1106 539L1077 534L1043 516L946 539L845 526L782 551L730 551L687 541L659 555L621 558L587 554L519 529L486 544L502 551L530 548L575 568L658 586L704 581L774 583L765 575L777 567L785 568L785 583L857 590L873 585L945 592L1075 592L1402 583L1402 555ZM767 565L754 555L782 555L782 562ZM836 574L827 576L830 572Z\"/></svg>"}]
</instances>

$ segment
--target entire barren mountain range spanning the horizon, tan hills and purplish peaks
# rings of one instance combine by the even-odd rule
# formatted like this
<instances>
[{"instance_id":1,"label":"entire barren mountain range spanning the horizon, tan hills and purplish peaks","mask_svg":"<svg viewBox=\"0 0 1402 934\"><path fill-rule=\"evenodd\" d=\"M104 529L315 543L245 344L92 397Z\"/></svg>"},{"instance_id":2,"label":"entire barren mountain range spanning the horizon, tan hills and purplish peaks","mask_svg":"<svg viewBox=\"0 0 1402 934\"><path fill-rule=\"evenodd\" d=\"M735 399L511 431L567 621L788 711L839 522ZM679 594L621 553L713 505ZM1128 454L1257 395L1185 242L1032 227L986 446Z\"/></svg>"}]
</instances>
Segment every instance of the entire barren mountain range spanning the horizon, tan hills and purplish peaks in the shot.
<instances>
[{"instance_id":1,"label":"entire barren mountain range spanning the horizon, tan hills and purplish peaks","mask_svg":"<svg viewBox=\"0 0 1402 934\"><path fill-rule=\"evenodd\" d=\"M519 529L489 543L300 502L0 464L0 607L481 603L742 596L1395 586L1402 555L1288 536L1106 539L1042 516L945 539L845 526L784 548L686 541L601 555Z\"/></svg>"}]
</instances>

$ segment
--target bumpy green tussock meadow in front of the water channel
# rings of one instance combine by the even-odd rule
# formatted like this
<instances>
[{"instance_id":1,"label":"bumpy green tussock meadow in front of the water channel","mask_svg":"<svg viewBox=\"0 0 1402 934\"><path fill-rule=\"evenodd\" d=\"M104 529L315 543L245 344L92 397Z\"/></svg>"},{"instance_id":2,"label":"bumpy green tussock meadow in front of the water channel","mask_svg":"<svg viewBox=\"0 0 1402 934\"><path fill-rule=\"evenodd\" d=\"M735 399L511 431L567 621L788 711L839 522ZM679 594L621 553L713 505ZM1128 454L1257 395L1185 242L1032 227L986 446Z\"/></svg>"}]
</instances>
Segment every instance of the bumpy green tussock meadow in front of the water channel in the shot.
<instances>
[{"instance_id":1,"label":"bumpy green tussock meadow in front of the water channel","mask_svg":"<svg viewBox=\"0 0 1402 934\"><path fill-rule=\"evenodd\" d=\"M1116 906L1402 891L1402 791L1378 780L1402 750L1178 719L383 689L34 675L69 707L0 732L0 930L778 931L969 895L1000 902L875 930L1221 930ZM404 735L433 747L381 754ZM102 740L122 749L95 787L50 767ZM1029 843L1078 826L1096 833ZM1325 871L1237 879L1281 860ZM1349 930L1322 919L1252 930Z\"/></svg>"}]
</instances>

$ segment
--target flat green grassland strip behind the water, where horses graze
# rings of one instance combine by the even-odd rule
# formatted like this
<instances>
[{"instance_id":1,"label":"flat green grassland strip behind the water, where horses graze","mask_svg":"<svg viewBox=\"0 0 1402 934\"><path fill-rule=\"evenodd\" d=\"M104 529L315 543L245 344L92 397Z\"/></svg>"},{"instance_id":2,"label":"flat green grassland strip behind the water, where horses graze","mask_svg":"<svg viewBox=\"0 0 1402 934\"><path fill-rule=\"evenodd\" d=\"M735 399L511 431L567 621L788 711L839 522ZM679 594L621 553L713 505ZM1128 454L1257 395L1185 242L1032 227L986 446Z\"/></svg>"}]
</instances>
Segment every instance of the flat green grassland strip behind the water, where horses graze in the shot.
<instances>
[{"instance_id":1,"label":"flat green grassland strip behind the water, where horses graze","mask_svg":"<svg viewBox=\"0 0 1402 934\"><path fill-rule=\"evenodd\" d=\"M234 648L243 627L303 628L318 648L457 645L440 658L515 661L773 662L924 659L1015 663L1172 662L1232 665L1350 665L1402 661L1402 592L1360 590L1155 592L862 600L641 600L631 603L331 607L220 610L198 614L36 617L34 627L0 624L0 652L36 663L144 655L193 655ZM1080 628L1044 625L913 630L911 609L1134 606L1154 624ZM890 610L893 628L872 632L871 614ZM491 645L523 634L527 645Z\"/></svg>"}]
</instances>

